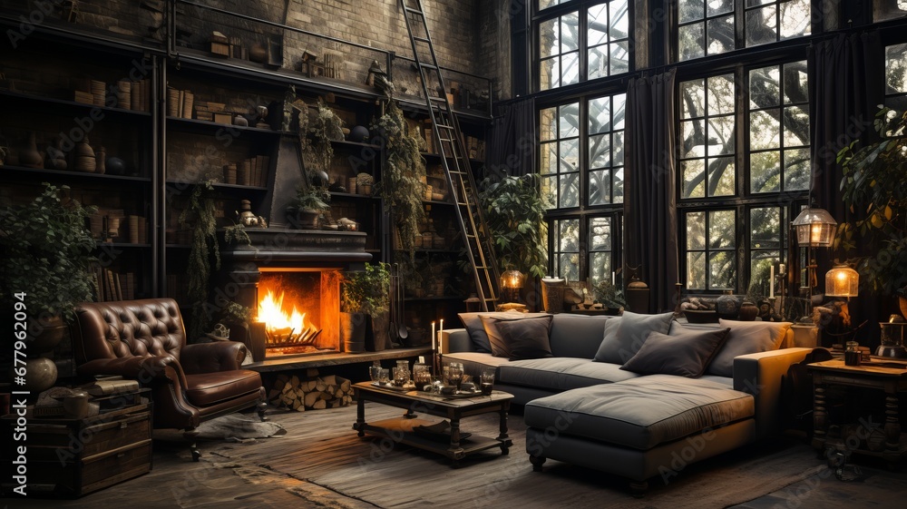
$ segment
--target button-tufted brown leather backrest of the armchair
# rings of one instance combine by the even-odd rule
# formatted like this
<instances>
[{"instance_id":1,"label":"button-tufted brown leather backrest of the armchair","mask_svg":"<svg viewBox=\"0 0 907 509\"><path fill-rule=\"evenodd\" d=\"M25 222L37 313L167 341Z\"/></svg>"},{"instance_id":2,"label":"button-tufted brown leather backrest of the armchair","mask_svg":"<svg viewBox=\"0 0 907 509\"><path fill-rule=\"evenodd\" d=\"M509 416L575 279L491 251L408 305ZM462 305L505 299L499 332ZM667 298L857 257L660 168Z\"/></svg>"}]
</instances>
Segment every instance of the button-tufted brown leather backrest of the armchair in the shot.
<instances>
[{"instance_id":1,"label":"button-tufted brown leather backrest of the armchair","mask_svg":"<svg viewBox=\"0 0 907 509\"><path fill-rule=\"evenodd\" d=\"M77 365L92 359L152 357L180 358L186 328L173 299L85 302L78 314L73 341Z\"/></svg>"}]
</instances>

